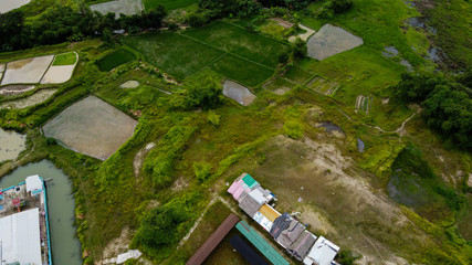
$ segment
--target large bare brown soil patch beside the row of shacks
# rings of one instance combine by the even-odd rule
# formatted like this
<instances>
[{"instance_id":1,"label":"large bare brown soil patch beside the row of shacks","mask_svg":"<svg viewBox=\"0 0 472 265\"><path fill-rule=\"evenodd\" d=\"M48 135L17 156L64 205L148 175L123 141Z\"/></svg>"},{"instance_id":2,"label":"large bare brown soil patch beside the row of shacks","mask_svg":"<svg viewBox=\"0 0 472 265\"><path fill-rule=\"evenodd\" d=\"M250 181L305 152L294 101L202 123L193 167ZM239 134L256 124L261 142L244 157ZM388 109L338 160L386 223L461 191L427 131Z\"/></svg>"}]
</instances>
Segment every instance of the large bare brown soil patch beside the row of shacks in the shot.
<instances>
[{"instance_id":1,"label":"large bare brown soil patch beside the row of shacks","mask_svg":"<svg viewBox=\"0 0 472 265\"><path fill-rule=\"evenodd\" d=\"M279 211L300 211L312 231L324 231L342 248L360 253L364 264L402 261L391 242L419 242L422 233L395 202L358 176L349 157L319 137L273 138L264 150L265 162L253 176L277 195Z\"/></svg>"}]
</instances>

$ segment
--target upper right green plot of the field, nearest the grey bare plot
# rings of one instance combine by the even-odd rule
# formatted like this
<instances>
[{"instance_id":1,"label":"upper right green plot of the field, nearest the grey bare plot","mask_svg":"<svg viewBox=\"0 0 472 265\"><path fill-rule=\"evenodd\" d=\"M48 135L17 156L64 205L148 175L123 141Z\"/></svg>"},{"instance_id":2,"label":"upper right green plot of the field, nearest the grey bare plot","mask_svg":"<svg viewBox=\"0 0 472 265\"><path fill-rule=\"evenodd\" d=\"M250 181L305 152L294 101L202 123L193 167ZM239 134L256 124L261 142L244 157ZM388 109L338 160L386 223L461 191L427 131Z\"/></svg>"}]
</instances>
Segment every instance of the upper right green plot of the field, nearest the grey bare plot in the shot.
<instances>
[{"instance_id":1,"label":"upper right green plot of the field, nearest the grey bare plot","mask_svg":"<svg viewBox=\"0 0 472 265\"><path fill-rule=\"evenodd\" d=\"M277 55L289 51L287 44L222 21L182 34L272 68L279 64Z\"/></svg>"}]
</instances>

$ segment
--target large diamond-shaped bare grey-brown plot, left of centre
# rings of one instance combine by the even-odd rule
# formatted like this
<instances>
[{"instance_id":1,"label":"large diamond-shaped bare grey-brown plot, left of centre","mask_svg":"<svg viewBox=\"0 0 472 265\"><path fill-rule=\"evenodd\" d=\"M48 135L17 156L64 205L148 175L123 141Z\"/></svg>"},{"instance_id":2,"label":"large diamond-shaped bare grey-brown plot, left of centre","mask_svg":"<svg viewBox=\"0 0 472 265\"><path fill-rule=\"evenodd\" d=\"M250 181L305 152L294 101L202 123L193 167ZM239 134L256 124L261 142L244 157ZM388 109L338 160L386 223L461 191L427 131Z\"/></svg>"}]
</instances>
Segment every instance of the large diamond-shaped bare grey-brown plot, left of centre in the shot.
<instances>
[{"instance_id":1,"label":"large diamond-shaped bare grey-brown plot, left of centre","mask_svg":"<svg viewBox=\"0 0 472 265\"><path fill-rule=\"evenodd\" d=\"M48 121L43 131L72 150L105 160L133 136L136 125L112 105L88 96Z\"/></svg>"}]
</instances>

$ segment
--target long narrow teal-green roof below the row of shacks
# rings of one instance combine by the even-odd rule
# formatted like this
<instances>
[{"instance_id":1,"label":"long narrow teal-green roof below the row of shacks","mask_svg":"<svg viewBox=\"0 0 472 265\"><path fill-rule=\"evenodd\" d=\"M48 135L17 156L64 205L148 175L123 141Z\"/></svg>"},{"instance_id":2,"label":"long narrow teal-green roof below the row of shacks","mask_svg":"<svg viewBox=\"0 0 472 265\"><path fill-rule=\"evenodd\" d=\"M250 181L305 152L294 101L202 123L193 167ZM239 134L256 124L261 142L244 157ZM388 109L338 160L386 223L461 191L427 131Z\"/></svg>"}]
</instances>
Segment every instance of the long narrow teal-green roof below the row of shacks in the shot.
<instances>
[{"instance_id":1,"label":"long narrow teal-green roof below the row of shacks","mask_svg":"<svg viewBox=\"0 0 472 265\"><path fill-rule=\"evenodd\" d=\"M248 174L249 176L249 174ZM239 222L235 227L274 265L289 265L269 243L262 239L249 224L244 221Z\"/></svg>"}]
</instances>

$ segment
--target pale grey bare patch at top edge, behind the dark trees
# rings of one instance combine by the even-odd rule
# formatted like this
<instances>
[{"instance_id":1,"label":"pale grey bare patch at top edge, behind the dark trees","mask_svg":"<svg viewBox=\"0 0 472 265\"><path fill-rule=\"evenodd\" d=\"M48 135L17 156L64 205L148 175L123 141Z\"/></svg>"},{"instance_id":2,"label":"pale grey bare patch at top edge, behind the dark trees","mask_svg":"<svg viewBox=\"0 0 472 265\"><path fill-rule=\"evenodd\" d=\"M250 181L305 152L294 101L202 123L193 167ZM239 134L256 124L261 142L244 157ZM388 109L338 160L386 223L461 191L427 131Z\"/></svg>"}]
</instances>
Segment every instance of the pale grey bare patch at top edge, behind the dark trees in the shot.
<instances>
[{"instance_id":1,"label":"pale grey bare patch at top edge, behind the dark trees","mask_svg":"<svg viewBox=\"0 0 472 265\"><path fill-rule=\"evenodd\" d=\"M98 11L102 14L115 13L115 18L119 18L119 13L126 15L140 14L144 11L141 0L115 0L91 6L92 11Z\"/></svg>"}]
</instances>

